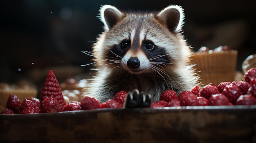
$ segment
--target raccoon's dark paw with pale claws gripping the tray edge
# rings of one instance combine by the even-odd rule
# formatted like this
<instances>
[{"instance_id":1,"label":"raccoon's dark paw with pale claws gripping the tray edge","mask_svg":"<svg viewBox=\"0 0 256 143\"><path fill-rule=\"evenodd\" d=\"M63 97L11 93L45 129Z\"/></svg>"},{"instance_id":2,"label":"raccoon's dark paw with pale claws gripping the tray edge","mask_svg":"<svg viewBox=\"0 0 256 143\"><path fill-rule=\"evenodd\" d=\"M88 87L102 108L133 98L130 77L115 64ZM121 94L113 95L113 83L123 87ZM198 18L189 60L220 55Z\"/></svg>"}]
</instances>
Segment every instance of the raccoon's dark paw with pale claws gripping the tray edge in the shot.
<instances>
[{"instance_id":1,"label":"raccoon's dark paw with pale claws gripping the tray edge","mask_svg":"<svg viewBox=\"0 0 256 143\"><path fill-rule=\"evenodd\" d=\"M135 89L127 93L125 108L146 108L151 105L151 95Z\"/></svg>"}]
</instances>

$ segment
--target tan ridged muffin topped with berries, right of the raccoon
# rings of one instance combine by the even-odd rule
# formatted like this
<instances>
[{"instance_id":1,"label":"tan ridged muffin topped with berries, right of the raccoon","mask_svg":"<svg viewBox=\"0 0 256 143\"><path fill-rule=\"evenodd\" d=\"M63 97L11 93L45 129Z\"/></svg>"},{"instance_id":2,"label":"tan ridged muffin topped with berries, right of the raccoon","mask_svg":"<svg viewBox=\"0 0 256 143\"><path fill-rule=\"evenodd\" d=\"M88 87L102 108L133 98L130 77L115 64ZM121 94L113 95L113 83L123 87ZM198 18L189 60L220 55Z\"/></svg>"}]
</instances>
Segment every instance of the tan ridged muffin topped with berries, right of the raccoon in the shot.
<instances>
[{"instance_id":1,"label":"tan ridged muffin topped with berries, right of the raccoon","mask_svg":"<svg viewBox=\"0 0 256 143\"><path fill-rule=\"evenodd\" d=\"M191 56L196 71L200 75L203 85L234 81L236 76L237 50L229 46L219 46L213 50L201 47Z\"/></svg>"}]
</instances>

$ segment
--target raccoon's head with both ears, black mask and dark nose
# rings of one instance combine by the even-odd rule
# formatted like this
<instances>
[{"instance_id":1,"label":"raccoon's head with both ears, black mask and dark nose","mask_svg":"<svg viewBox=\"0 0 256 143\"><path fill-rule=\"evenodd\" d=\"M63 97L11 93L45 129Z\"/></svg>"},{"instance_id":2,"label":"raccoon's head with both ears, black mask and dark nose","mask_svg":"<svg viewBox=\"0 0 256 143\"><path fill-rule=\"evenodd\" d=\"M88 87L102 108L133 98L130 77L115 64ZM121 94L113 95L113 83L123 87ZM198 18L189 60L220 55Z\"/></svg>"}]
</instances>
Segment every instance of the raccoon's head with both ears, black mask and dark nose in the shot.
<instances>
[{"instance_id":1,"label":"raccoon's head with both ears, black mask and dark nose","mask_svg":"<svg viewBox=\"0 0 256 143\"><path fill-rule=\"evenodd\" d=\"M132 74L164 73L163 69L173 66L182 53L182 19L182 9L177 6L159 13L122 13L110 5L103 6L103 65Z\"/></svg>"}]
</instances>

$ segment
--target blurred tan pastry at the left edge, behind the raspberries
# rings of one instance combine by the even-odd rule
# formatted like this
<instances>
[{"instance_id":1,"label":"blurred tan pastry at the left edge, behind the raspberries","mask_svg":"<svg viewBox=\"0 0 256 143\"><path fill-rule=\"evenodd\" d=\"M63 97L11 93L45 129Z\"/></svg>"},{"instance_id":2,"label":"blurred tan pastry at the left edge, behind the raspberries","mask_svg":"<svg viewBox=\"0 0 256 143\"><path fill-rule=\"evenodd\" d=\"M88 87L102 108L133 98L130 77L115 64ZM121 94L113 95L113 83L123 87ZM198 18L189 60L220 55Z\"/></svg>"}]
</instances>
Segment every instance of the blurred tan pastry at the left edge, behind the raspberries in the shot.
<instances>
[{"instance_id":1,"label":"blurred tan pastry at the left edge, behind the raspberries","mask_svg":"<svg viewBox=\"0 0 256 143\"><path fill-rule=\"evenodd\" d=\"M0 112L7 108L6 104L10 93L16 95L22 102L25 98L36 98L37 92L36 86L26 80L20 80L15 84L0 83Z\"/></svg>"}]
</instances>

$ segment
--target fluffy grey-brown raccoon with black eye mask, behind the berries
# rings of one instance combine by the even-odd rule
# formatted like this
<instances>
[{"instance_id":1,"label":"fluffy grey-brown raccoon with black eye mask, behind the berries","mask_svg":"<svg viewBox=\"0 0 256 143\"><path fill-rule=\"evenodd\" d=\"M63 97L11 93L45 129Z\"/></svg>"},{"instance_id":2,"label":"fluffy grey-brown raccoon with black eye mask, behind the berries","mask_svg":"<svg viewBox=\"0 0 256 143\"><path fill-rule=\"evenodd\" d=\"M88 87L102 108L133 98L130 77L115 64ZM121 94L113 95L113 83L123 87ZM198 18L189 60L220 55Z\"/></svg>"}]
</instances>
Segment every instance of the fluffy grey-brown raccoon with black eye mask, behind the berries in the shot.
<instances>
[{"instance_id":1,"label":"fluffy grey-brown raccoon with black eye mask, behind the berries","mask_svg":"<svg viewBox=\"0 0 256 143\"><path fill-rule=\"evenodd\" d=\"M182 34L182 7L124 12L104 5L99 18L105 31L94 43L93 53L87 52L96 67L86 95L103 103L121 90L137 89L155 102L167 89L179 95L199 84L189 58L191 47Z\"/></svg>"}]
</instances>

